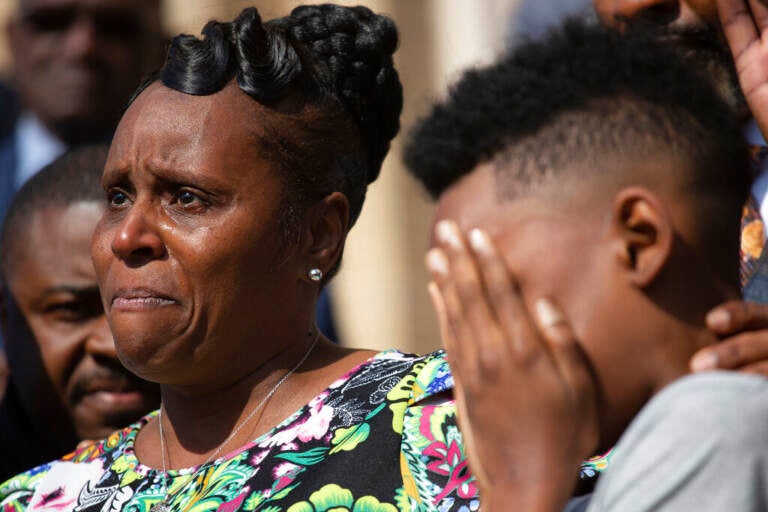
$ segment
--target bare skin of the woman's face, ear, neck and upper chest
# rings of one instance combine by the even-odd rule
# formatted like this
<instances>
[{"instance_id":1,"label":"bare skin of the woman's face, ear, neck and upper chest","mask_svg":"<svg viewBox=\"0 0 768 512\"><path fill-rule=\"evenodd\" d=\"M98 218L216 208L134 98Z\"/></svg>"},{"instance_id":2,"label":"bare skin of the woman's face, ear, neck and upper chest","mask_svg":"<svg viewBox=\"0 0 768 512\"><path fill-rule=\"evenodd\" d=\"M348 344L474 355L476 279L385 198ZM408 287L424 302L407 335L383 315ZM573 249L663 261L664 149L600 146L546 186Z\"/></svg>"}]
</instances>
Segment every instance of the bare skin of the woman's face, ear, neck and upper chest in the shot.
<instances>
[{"instance_id":1,"label":"bare skin of the woman's face, ear, neck and upper chest","mask_svg":"<svg viewBox=\"0 0 768 512\"><path fill-rule=\"evenodd\" d=\"M307 272L333 267L349 206L338 192L311 205L298 242L283 247L283 180L259 144L282 108L234 84L191 96L155 83L110 150L93 261L120 359L161 384L168 467L206 460L318 336L319 285ZM296 105L286 108L295 115ZM267 431L370 355L321 340L224 449ZM143 463L162 467L159 443L153 421L137 439Z\"/></svg>"}]
</instances>

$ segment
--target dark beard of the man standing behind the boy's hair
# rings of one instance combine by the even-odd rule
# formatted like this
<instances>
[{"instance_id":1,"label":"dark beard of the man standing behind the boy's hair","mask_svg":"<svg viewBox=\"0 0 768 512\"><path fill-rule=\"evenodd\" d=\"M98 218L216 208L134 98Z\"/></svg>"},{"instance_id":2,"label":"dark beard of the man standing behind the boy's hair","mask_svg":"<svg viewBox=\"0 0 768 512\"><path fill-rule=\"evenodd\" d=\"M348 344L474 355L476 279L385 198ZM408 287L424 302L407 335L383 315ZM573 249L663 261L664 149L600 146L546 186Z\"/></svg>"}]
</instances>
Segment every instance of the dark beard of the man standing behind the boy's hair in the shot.
<instances>
[{"instance_id":1,"label":"dark beard of the man standing behind the boy's hair","mask_svg":"<svg viewBox=\"0 0 768 512\"><path fill-rule=\"evenodd\" d=\"M750 115L731 51L714 27L653 28L652 33L656 40L669 45L683 60L710 77L712 85L737 115Z\"/></svg>"}]
</instances>

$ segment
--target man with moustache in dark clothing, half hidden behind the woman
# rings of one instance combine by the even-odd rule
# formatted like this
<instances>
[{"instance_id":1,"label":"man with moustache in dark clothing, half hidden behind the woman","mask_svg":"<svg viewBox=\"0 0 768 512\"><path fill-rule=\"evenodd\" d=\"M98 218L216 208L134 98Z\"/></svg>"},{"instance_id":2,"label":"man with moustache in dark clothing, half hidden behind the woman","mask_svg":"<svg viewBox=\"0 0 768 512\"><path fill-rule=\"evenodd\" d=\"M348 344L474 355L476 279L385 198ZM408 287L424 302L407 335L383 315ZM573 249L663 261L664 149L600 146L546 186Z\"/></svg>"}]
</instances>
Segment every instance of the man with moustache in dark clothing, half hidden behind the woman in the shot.
<instances>
[{"instance_id":1,"label":"man with moustache in dark clothing, half hidden behind the woman","mask_svg":"<svg viewBox=\"0 0 768 512\"><path fill-rule=\"evenodd\" d=\"M10 378L0 402L0 481L100 439L160 403L115 354L91 261L107 147L82 147L36 174L0 238Z\"/></svg>"}]
</instances>

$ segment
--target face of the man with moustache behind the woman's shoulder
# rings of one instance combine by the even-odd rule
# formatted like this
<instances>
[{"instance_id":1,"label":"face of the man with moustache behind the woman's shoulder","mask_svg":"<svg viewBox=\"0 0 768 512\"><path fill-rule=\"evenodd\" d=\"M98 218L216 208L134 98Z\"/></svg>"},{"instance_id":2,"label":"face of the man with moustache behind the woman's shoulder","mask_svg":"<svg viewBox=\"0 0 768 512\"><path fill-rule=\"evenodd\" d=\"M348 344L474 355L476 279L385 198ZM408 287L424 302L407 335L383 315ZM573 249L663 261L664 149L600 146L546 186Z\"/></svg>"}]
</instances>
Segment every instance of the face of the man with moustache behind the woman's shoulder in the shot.
<instances>
[{"instance_id":1,"label":"face of the man with moustache behind the woman's shoulder","mask_svg":"<svg viewBox=\"0 0 768 512\"><path fill-rule=\"evenodd\" d=\"M67 432L63 412L77 439L106 437L159 402L157 387L115 354L90 259L102 211L101 203L82 202L37 212L9 271L4 334L11 368L24 368L13 373L17 392L36 423L55 421Z\"/></svg>"}]
</instances>

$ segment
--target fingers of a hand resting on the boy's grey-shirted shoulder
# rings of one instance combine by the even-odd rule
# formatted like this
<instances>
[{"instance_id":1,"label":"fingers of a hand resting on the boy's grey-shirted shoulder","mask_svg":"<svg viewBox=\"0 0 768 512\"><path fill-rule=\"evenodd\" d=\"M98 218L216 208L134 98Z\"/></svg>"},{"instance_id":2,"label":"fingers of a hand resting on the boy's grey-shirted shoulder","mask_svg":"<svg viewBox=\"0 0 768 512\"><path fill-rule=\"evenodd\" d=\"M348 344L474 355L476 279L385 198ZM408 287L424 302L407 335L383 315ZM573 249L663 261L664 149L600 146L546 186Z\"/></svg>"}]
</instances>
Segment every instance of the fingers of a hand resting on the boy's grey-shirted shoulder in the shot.
<instances>
[{"instance_id":1,"label":"fingers of a hand resting on the boy's grey-shirted shoulder","mask_svg":"<svg viewBox=\"0 0 768 512\"><path fill-rule=\"evenodd\" d=\"M725 339L699 350L691 370L739 370L768 377L768 305L727 302L710 311L707 327Z\"/></svg>"}]
</instances>

